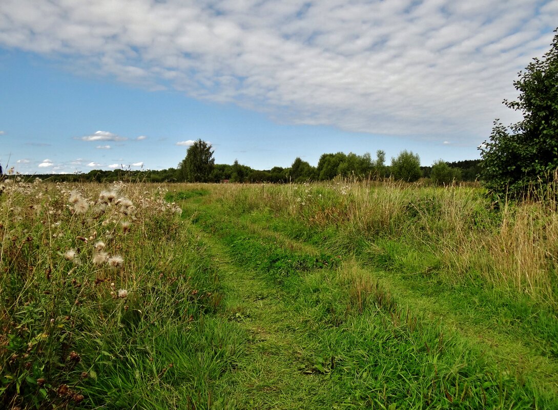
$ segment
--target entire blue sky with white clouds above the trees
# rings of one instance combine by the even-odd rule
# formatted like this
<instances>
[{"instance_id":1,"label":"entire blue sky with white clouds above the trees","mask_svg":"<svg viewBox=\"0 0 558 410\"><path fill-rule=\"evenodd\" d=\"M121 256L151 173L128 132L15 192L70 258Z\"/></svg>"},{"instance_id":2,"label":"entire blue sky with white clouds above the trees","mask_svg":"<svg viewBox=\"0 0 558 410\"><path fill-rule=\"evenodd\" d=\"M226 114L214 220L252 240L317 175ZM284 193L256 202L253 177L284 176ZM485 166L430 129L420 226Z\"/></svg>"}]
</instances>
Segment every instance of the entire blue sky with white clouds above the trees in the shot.
<instances>
[{"instance_id":1,"label":"entire blue sky with white clouds above the trees","mask_svg":"<svg viewBox=\"0 0 558 410\"><path fill-rule=\"evenodd\" d=\"M1 0L0 164L477 159L556 26L557 1Z\"/></svg>"}]
</instances>

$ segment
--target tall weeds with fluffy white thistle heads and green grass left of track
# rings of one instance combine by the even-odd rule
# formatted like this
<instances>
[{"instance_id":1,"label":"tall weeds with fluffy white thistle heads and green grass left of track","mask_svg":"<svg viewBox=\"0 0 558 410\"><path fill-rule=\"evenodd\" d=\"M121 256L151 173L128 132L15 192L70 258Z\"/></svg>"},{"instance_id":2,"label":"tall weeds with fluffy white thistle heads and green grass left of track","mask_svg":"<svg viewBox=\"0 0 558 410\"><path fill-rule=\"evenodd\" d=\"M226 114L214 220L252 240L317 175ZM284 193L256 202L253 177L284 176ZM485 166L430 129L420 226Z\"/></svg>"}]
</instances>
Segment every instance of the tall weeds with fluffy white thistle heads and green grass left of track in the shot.
<instances>
[{"instance_id":1,"label":"tall weeds with fluffy white thistle heads and green grass left of track","mask_svg":"<svg viewBox=\"0 0 558 410\"><path fill-rule=\"evenodd\" d=\"M167 193L4 182L0 407L208 406L241 339Z\"/></svg>"}]
</instances>

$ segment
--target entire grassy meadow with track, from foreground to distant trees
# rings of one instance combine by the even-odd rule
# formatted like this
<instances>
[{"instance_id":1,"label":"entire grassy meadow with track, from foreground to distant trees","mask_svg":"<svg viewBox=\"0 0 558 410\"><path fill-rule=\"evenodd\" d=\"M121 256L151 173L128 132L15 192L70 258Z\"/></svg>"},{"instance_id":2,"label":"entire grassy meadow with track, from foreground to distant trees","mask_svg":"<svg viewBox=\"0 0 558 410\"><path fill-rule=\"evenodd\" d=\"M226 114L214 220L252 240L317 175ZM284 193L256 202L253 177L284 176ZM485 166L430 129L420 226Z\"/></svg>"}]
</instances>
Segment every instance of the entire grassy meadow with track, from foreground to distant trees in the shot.
<instances>
[{"instance_id":1,"label":"entire grassy meadow with track, from foreground to distant trees","mask_svg":"<svg viewBox=\"0 0 558 410\"><path fill-rule=\"evenodd\" d=\"M2 408L558 408L552 201L341 179L0 189Z\"/></svg>"}]
</instances>

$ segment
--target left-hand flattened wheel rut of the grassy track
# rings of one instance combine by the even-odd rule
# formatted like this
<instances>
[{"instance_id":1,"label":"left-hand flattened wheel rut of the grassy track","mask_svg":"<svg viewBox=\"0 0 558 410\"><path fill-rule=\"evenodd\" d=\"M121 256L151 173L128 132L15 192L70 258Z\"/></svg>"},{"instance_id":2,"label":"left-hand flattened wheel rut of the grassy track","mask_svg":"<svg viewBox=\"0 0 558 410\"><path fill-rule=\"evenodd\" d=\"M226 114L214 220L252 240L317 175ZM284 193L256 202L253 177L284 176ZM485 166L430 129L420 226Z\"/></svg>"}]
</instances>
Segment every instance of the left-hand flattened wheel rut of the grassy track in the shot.
<instances>
[{"instance_id":1,"label":"left-hand flattened wheel rut of the grassy track","mask_svg":"<svg viewBox=\"0 0 558 410\"><path fill-rule=\"evenodd\" d=\"M228 319L246 330L248 339L246 354L218 383L219 395L238 408L331 408L324 402L331 396L328 380L301 372L311 349L301 337L304 318L285 305L280 290L236 266L226 247L207 235L204 241L220 275Z\"/></svg>"}]
</instances>

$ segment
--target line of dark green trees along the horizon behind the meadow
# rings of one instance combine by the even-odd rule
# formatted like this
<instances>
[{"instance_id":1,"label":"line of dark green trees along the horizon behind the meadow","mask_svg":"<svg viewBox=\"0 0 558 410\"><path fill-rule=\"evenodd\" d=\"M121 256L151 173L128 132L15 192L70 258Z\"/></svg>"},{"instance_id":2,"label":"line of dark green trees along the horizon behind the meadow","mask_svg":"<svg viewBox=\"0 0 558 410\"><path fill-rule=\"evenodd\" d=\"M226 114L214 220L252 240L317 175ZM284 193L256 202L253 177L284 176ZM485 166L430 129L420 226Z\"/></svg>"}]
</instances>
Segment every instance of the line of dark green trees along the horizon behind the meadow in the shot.
<instances>
[{"instance_id":1,"label":"line of dark green trees along the horizon behind the meadow","mask_svg":"<svg viewBox=\"0 0 558 410\"><path fill-rule=\"evenodd\" d=\"M54 182L113 182L117 180L143 182L232 182L232 183L288 183L325 181L335 177L354 179L394 178L415 182L419 178L430 178L437 184L454 181L474 181L480 172L480 160L466 160L448 163L437 161L431 167L420 165L417 154L403 151L391 164L386 164L383 150L376 152L376 158L369 153L357 155L343 152L321 155L315 167L300 157L290 167L253 169L235 160L233 164L215 164L211 145L202 140L195 141L186 157L176 168L163 170L94 169L88 173L35 175ZM1 168L0 168L1 169Z\"/></svg>"}]
</instances>

